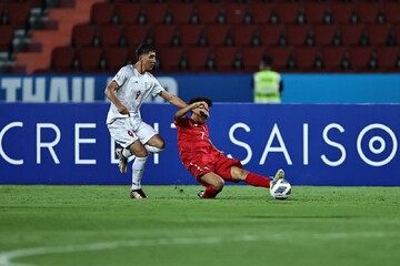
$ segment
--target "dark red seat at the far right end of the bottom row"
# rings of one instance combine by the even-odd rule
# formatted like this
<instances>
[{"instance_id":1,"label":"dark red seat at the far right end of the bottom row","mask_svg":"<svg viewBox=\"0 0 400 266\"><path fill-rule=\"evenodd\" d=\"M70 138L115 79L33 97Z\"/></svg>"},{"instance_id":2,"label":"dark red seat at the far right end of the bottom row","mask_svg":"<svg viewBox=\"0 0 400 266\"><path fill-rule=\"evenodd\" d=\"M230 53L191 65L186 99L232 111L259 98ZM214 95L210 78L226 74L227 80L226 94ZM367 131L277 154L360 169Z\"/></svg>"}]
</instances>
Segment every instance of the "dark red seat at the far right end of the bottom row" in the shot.
<instances>
[{"instance_id":1,"label":"dark red seat at the far right end of the bottom row","mask_svg":"<svg viewBox=\"0 0 400 266\"><path fill-rule=\"evenodd\" d=\"M376 53L380 71L399 71L400 50L398 47L377 47Z\"/></svg>"}]
</instances>

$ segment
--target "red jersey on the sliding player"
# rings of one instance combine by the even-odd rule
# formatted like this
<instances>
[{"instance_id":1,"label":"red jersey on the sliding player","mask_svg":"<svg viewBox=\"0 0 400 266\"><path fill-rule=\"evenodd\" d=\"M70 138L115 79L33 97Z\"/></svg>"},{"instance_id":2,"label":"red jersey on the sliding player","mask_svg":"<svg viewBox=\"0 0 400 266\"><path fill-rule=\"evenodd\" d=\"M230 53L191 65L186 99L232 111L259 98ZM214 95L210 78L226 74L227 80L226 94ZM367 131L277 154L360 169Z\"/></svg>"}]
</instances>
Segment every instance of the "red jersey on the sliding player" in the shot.
<instances>
[{"instance_id":1,"label":"red jersey on the sliding player","mask_svg":"<svg viewBox=\"0 0 400 266\"><path fill-rule=\"evenodd\" d=\"M197 124L192 119L184 116L174 121L178 130L178 150L182 155L184 152L209 153L214 147L210 143L208 125Z\"/></svg>"}]
</instances>

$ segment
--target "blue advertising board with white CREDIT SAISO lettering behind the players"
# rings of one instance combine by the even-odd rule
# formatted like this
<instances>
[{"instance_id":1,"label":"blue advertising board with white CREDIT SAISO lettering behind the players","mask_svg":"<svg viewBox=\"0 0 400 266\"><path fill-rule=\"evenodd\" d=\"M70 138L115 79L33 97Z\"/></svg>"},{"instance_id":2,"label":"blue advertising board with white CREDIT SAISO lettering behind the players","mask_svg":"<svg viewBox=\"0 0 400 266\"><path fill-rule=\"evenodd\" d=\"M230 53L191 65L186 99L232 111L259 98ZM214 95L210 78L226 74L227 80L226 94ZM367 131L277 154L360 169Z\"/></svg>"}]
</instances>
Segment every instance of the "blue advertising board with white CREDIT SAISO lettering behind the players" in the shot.
<instances>
[{"instance_id":1,"label":"blue advertising board with white CREDIT SAISO lettering behind the players","mask_svg":"<svg viewBox=\"0 0 400 266\"><path fill-rule=\"evenodd\" d=\"M0 184L130 184L118 171L107 103L0 104ZM147 103L167 149L143 184L197 184L179 160L176 108ZM216 103L210 136L227 156L293 185L400 185L400 104Z\"/></svg>"}]
</instances>

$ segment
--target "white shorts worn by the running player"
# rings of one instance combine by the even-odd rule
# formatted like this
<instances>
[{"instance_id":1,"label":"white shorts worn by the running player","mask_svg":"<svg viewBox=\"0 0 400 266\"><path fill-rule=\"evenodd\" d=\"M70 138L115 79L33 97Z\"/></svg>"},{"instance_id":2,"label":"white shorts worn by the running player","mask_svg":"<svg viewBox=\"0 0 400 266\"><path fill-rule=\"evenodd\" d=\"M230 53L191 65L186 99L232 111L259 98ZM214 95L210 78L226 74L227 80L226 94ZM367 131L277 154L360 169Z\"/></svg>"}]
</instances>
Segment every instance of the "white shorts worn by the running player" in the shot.
<instances>
[{"instance_id":1,"label":"white shorts worn by the running player","mask_svg":"<svg viewBox=\"0 0 400 266\"><path fill-rule=\"evenodd\" d=\"M111 124L107 124L111 137L122 147L127 147L137 140L143 145L158 132L144 123L142 120L117 119Z\"/></svg>"}]
</instances>

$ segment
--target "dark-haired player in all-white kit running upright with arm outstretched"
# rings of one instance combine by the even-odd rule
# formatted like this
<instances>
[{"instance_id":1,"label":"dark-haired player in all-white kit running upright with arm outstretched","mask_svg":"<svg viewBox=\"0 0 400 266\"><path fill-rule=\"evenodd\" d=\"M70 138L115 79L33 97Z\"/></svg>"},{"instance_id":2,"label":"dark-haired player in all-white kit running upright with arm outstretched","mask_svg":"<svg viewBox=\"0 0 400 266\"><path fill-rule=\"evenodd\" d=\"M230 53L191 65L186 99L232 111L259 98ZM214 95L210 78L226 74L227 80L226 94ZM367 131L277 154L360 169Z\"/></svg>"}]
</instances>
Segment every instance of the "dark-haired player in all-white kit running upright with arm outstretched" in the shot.
<instances>
[{"instance_id":1,"label":"dark-haired player in all-white kit running upright with arm outstretched","mask_svg":"<svg viewBox=\"0 0 400 266\"><path fill-rule=\"evenodd\" d=\"M167 102L184 108L188 104L166 91L159 81L149 73L156 64L156 49L140 44L137 49L138 61L122 66L107 85L104 94L111 101L107 115L107 126L111 137L122 146L116 150L119 168L127 173L127 163L134 156L132 165L131 198L146 198L141 178L149 153L159 153L166 147L161 135L142 121L140 106L150 94L159 95Z\"/></svg>"}]
</instances>

